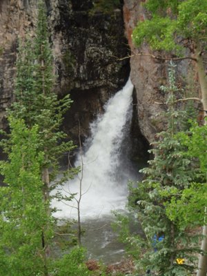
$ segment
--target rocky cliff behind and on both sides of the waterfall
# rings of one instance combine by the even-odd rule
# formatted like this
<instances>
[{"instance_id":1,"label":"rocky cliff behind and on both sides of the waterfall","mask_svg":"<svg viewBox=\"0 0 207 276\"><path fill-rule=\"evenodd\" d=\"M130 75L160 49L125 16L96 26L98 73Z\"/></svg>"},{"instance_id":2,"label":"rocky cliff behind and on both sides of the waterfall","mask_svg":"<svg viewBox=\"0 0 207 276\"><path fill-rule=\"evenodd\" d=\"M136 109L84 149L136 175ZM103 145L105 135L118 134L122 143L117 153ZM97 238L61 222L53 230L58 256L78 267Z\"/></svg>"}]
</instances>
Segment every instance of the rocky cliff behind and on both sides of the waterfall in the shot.
<instances>
[{"instance_id":1,"label":"rocky cliff behind and on both sides of the waterfall","mask_svg":"<svg viewBox=\"0 0 207 276\"><path fill-rule=\"evenodd\" d=\"M111 1L116 2L116 1ZM89 123L103 110L113 92L123 86L130 73L135 85L132 137L138 148L152 141L163 126L157 120L166 83L165 61L137 55L131 34L144 20L144 0L124 0L117 6L101 7L102 0L46 0L54 70L59 97L70 93L74 103L66 114L64 128L77 141L88 135ZM37 0L0 1L0 126L13 100L18 37L32 34L37 20ZM130 59L121 59L130 55ZM143 52L149 53L146 46ZM119 59L120 58L120 59ZM179 64L185 71L186 64ZM143 135L143 136L142 136Z\"/></svg>"}]
</instances>

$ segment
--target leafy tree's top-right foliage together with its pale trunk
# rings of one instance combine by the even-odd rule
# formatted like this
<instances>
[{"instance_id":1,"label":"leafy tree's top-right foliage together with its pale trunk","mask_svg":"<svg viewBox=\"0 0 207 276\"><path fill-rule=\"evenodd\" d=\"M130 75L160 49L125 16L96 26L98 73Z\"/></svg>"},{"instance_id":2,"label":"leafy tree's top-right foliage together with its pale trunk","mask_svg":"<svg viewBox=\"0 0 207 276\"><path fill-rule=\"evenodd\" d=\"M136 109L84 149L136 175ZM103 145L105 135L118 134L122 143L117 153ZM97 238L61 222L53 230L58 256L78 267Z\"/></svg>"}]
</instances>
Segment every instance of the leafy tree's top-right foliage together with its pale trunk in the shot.
<instances>
[{"instance_id":1,"label":"leafy tree's top-right foliage together with its pale trunk","mask_svg":"<svg viewBox=\"0 0 207 276\"><path fill-rule=\"evenodd\" d=\"M202 117L207 114L207 81L205 72L207 3L202 0L148 0L146 7L150 19L139 22L133 32L133 41L138 47L144 41L154 50L166 50L178 55L179 59L188 58L197 63L197 73L201 88ZM185 57L188 48L190 57ZM175 58L177 59L177 57ZM204 120L204 124L206 121ZM207 225L204 226L204 237L207 237ZM207 248L207 238L204 238ZM202 258L202 257L201 257ZM206 260L203 262L206 263ZM199 266L200 270L200 266ZM203 269L201 269L203 270ZM207 266L197 276L204 276Z\"/></svg>"}]
</instances>

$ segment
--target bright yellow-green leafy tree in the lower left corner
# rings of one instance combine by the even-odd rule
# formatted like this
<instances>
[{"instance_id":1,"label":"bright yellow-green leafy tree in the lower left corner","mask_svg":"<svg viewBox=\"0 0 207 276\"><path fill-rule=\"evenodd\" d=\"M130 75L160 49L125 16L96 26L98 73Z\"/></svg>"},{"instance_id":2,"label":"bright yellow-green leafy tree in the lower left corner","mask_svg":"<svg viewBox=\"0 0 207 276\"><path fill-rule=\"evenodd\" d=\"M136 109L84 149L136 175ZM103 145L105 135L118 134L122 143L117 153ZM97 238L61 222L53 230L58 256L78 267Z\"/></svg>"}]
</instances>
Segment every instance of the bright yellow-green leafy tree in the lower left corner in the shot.
<instances>
[{"instance_id":1,"label":"bright yellow-green leafy tree in the lower left corner","mask_svg":"<svg viewBox=\"0 0 207 276\"><path fill-rule=\"evenodd\" d=\"M1 275L31 276L43 273L41 236L52 237L52 219L43 201L38 126L27 128L21 119L9 117L10 151L1 161L7 186L0 189ZM46 227L47 226L47 227Z\"/></svg>"}]
</instances>

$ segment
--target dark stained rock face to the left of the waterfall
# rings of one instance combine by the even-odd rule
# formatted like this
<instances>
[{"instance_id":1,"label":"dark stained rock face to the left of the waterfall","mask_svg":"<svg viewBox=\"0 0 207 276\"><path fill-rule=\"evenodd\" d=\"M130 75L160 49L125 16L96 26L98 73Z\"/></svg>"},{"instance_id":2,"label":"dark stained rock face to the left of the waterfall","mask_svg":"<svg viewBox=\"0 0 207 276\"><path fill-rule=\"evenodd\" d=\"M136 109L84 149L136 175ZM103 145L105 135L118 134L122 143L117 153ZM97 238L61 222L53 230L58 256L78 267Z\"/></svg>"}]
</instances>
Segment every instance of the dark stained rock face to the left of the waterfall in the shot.
<instances>
[{"instance_id":1,"label":"dark stained rock face to the left of the waterfall","mask_svg":"<svg viewBox=\"0 0 207 276\"><path fill-rule=\"evenodd\" d=\"M70 137L88 134L88 124L110 95L124 85L130 72L122 6L110 11L93 7L92 0L46 0L59 97L70 93L74 103L64 122ZM32 34L37 0L0 1L0 125L12 101L17 38Z\"/></svg>"}]
</instances>

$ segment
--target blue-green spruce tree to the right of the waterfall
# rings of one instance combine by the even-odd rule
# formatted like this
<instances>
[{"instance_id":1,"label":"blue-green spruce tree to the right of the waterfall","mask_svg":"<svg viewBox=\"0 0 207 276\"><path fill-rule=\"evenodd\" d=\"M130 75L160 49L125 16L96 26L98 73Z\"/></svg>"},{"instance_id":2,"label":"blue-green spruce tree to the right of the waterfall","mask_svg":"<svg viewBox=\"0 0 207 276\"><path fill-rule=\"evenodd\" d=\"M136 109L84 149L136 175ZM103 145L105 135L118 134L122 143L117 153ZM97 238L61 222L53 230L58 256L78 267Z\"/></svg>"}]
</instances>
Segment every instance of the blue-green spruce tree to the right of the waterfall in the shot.
<instances>
[{"instance_id":1,"label":"blue-green spruce tree to the right of the waterfall","mask_svg":"<svg viewBox=\"0 0 207 276\"><path fill-rule=\"evenodd\" d=\"M157 141L152 143L153 149L150 150L154 159L149 161L148 168L141 170L144 180L131 188L130 193L130 208L137 213L146 239L138 237L131 240L142 247L137 260L138 270L144 268L152 275L184 276L193 273L195 258L192 252L199 250L193 242L190 243L193 237L186 233L186 229L168 217L166 204L172 198L179 199L181 191L190 186L195 174L190 158L182 154L186 147L175 136L179 130L180 114L175 100L179 89L175 85L172 64L169 85L162 90L167 95L166 130L157 134Z\"/></svg>"}]
</instances>

